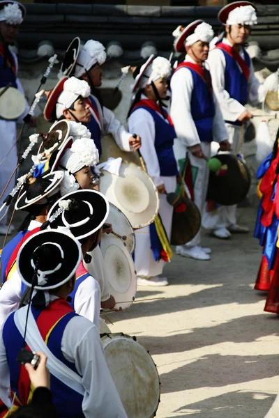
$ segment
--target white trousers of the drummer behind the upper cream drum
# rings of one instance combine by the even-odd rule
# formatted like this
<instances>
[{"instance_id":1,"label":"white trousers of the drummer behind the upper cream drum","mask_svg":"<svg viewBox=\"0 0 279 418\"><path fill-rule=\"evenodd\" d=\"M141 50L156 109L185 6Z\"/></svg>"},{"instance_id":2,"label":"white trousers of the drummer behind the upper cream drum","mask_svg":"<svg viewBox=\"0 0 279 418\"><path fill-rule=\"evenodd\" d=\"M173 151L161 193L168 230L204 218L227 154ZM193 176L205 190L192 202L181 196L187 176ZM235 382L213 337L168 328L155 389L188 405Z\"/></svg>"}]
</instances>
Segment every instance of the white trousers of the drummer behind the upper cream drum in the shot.
<instances>
[{"instance_id":1,"label":"white trousers of the drummer behind the upper cream drum","mask_svg":"<svg viewBox=\"0 0 279 418\"><path fill-rule=\"evenodd\" d=\"M176 188L176 177L161 176L165 189L168 193L174 192ZM172 211L173 207L167 203L167 196L160 194L160 217L162 219L167 238L170 240L172 232ZM135 270L139 277L159 276L163 272L165 261L155 261L151 251L149 226L135 231Z\"/></svg>"}]
</instances>

